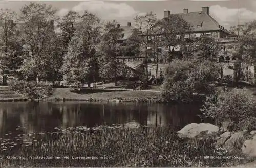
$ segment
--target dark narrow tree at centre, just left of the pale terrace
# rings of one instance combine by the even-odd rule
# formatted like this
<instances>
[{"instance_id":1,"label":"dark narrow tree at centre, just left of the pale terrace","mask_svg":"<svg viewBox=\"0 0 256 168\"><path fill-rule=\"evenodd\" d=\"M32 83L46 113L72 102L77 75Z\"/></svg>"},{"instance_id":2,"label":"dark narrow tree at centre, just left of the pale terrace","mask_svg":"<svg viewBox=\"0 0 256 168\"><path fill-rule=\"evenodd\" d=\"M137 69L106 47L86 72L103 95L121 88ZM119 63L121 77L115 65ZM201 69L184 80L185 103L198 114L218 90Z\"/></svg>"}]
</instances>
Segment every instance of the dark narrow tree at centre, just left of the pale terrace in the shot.
<instances>
[{"instance_id":1,"label":"dark narrow tree at centre, just left of the pale terrace","mask_svg":"<svg viewBox=\"0 0 256 168\"><path fill-rule=\"evenodd\" d=\"M125 67L117 57L122 55L122 44L119 42L123 29L119 27L116 21L108 22L105 25L104 34L100 43L100 74L103 79L114 78L117 85L117 77Z\"/></svg>"}]
</instances>

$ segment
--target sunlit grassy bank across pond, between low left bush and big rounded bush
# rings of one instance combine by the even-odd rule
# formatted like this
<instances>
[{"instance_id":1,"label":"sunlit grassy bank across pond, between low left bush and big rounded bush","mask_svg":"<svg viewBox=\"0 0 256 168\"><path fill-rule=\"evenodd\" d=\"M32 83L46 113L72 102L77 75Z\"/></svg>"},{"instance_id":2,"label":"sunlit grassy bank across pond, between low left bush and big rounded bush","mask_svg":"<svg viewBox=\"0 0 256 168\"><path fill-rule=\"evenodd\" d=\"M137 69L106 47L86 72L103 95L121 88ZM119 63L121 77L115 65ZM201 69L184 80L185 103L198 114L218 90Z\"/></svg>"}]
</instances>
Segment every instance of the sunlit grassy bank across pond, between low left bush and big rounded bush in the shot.
<instances>
[{"instance_id":1,"label":"sunlit grassy bank across pond, between low left bush and big rounded bush","mask_svg":"<svg viewBox=\"0 0 256 168\"><path fill-rule=\"evenodd\" d=\"M123 102L161 102L160 93L156 91L130 91L113 89L82 89L54 88L53 94L46 100L83 100L83 101L111 101Z\"/></svg>"}]
</instances>

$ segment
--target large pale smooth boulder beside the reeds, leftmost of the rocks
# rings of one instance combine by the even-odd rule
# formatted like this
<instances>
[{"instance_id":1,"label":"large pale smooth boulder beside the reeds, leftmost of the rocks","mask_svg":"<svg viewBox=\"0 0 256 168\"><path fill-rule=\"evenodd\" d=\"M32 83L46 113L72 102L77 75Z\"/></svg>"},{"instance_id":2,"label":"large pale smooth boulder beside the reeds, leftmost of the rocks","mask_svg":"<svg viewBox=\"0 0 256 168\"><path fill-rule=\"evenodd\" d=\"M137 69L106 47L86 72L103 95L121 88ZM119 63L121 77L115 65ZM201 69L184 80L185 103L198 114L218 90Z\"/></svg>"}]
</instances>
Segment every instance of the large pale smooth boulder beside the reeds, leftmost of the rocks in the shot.
<instances>
[{"instance_id":1,"label":"large pale smooth boulder beside the reeds, leftmost of the rocks","mask_svg":"<svg viewBox=\"0 0 256 168\"><path fill-rule=\"evenodd\" d=\"M219 127L210 123L191 123L178 131L181 138L195 138L198 135L210 135L219 131Z\"/></svg>"}]
</instances>

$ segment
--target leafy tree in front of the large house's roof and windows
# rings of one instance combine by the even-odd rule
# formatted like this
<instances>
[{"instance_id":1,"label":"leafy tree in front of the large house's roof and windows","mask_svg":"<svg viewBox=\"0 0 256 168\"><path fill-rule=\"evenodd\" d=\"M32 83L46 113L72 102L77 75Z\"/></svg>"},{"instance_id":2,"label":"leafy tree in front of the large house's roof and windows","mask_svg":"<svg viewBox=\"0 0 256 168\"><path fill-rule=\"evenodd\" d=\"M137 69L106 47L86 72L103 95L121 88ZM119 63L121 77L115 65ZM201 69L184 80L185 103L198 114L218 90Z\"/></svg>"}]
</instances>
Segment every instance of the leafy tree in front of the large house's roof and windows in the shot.
<instances>
[{"instance_id":1,"label":"leafy tree in front of the large house's roof and windows","mask_svg":"<svg viewBox=\"0 0 256 168\"><path fill-rule=\"evenodd\" d=\"M175 51L193 42L189 35L193 26L179 14L164 17L158 25L161 28L163 45L167 48L169 61L174 59Z\"/></svg>"}]
</instances>

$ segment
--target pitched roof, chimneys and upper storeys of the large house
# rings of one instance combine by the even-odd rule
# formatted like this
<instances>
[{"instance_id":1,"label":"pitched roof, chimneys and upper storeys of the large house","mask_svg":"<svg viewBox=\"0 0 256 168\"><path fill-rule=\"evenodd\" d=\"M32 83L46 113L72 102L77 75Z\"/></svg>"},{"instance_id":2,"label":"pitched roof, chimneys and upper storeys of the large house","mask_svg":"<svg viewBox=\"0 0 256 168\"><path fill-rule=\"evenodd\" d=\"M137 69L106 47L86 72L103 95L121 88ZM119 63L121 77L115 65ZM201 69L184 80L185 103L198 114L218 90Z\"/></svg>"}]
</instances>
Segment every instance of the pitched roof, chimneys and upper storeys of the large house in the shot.
<instances>
[{"instance_id":1,"label":"pitched roof, chimneys and upper storeys of the large house","mask_svg":"<svg viewBox=\"0 0 256 168\"><path fill-rule=\"evenodd\" d=\"M170 11L164 11L164 18L169 17L170 15L172 15L170 14ZM222 25L220 25L214 18L210 16L209 7L202 7L202 11L197 12L188 12L188 9L183 9L183 13L174 15L179 15L192 26L192 32L185 35L185 38L213 38L216 40L216 42L222 45L223 52L218 56L220 57L219 61L222 62L223 60L225 61L232 59L231 55L226 55L224 53L234 49L234 45L237 43L236 35L229 33ZM181 52L189 50L188 48L189 46L185 46Z\"/></svg>"}]
</instances>

